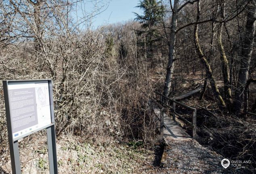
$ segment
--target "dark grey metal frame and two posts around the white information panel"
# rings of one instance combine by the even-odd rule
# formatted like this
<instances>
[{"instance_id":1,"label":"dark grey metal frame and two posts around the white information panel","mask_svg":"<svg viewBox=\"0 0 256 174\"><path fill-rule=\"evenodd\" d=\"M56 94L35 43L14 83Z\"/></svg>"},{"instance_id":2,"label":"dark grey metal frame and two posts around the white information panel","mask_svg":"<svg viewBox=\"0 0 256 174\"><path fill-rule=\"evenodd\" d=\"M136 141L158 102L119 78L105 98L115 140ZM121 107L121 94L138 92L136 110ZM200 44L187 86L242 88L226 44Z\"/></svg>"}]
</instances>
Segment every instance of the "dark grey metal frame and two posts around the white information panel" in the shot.
<instances>
[{"instance_id":1,"label":"dark grey metal frame and two posts around the white information panel","mask_svg":"<svg viewBox=\"0 0 256 174\"><path fill-rule=\"evenodd\" d=\"M11 116L10 116L10 102L9 102L9 94L8 94L8 84L12 83L48 83L49 90L49 102L50 102L50 117L51 124L26 133L20 137L13 138L13 131L11 125ZM49 160L49 170L50 174L58 174L58 165L57 165L57 150L56 150L56 134L55 134L55 119L54 119L54 108L53 108L53 95L52 95L52 80L3 80L3 90L4 90L4 103L5 103L5 111L6 111L6 122L7 122L7 131L8 131L8 141L10 148L10 160L12 166L13 174L21 174L21 165L19 158L19 144L18 140L40 131L42 129L46 129L47 131L47 145L48 145L48 160Z\"/></svg>"}]
</instances>

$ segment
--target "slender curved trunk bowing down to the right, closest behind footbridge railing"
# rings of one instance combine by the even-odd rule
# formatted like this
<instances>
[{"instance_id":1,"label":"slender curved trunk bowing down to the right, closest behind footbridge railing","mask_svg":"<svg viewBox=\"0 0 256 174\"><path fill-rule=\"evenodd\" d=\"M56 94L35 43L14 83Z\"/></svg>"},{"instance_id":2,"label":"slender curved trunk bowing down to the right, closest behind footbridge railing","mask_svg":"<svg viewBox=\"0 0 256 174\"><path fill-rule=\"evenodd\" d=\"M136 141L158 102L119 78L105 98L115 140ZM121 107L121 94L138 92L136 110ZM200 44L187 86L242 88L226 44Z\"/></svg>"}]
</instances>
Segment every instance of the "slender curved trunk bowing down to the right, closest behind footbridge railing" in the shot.
<instances>
[{"instance_id":1,"label":"slender curved trunk bowing down to the right, closest behind footbridge railing","mask_svg":"<svg viewBox=\"0 0 256 174\"><path fill-rule=\"evenodd\" d=\"M197 22L200 19L200 2L201 0L197 1ZM222 99L220 92L218 90L218 86L215 83L214 77L212 75L212 69L210 67L210 64L208 63L206 56L204 55L204 53L201 50L201 47L199 45L199 38L198 38L198 24L195 25L195 29L194 29L194 42L195 42L195 49L197 51L197 54L199 56L199 58L201 59L201 62L204 65L204 68L206 70L206 76L208 77L208 80L210 81L212 90L214 92L214 95L218 98L218 100L220 101L220 104L222 106L225 106L225 102Z\"/></svg>"}]
</instances>

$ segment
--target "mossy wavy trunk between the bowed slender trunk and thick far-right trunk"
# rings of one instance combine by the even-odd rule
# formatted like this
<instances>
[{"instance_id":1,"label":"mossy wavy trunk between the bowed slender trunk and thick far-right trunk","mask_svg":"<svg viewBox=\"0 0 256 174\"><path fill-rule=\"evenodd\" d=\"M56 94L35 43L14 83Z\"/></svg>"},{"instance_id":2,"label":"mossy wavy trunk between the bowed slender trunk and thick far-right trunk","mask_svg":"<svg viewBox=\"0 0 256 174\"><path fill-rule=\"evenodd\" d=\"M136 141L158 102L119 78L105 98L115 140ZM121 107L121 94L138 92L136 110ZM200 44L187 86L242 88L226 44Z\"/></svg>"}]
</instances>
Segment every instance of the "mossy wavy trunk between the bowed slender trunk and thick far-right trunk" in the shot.
<instances>
[{"instance_id":1,"label":"mossy wavy trunk between the bowed slender trunk and thick far-right trunk","mask_svg":"<svg viewBox=\"0 0 256 174\"><path fill-rule=\"evenodd\" d=\"M226 3L224 0L220 0L220 16L222 19L225 19L225 8ZM230 88L230 77L229 77L229 61L227 59L225 49L222 45L222 29L223 29L223 23L220 23L219 29L218 29L218 48L220 50L220 59L222 61L222 76L223 76L223 82L224 82L224 90L225 90L225 96L228 99L229 103L231 103L231 88Z\"/></svg>"}]
</instances>

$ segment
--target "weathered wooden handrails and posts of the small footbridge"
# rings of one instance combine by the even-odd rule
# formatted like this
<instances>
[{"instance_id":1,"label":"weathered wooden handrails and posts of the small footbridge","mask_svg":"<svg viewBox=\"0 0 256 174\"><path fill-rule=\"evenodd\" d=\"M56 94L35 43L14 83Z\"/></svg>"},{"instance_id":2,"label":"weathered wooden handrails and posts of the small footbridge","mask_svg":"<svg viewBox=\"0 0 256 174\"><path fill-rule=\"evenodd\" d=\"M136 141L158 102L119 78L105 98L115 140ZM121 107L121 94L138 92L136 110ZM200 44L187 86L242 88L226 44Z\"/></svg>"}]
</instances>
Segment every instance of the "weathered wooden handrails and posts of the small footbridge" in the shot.
<instances>
[{"instance_id":1,"label":"weathered wooden handrails and posts of the small footbridge","mask_svg":"<svg viewBox=\"0 0 256 174\"><path fill-rule=\"evenodd\" d=\"M193 139L196 139L196 129L197 129L197 124L196 124L196 108L193 108L191 106L187 106L186 104L183 104L181 102L178 102L176 100L173 100L169 97L166 97L164 96L163 94L157 92L157 91L154 91L155 94L158 94L160 96L159 100L157 100L156 98L153 98L153 102L155 104L157 104L157 106L159 107L159 105L161 107L160 110L161 110L161 113L162 113L162 110L164 111L164 109L166 108L169 108L170 111L172 112L172 119L173 121L176 121L176 117L178 117L180 120L183 120L185 121L188 125L190 125L192 127L192 136L193 136ZM166 102L165 102L166 101ZM170 101L169 103L172 103L172 107L168 104L168 101ZM159 104L158 102L160 102L162 105L166 106L166 108L164 106L162 106L161 104ZM190 121L188 121L187 119L185 119L184 117L182 117L180 114L176 113L176 104L180 105L180 106L183 106L184 108L187 108L191 111L193 111L193 114L192 114L192 123ZM164 113L162 114L162 121L164 121ZM164 123L163 123L164 125ZM161 127L161 126L160 126Z\"/></svg>"}]
</instances>

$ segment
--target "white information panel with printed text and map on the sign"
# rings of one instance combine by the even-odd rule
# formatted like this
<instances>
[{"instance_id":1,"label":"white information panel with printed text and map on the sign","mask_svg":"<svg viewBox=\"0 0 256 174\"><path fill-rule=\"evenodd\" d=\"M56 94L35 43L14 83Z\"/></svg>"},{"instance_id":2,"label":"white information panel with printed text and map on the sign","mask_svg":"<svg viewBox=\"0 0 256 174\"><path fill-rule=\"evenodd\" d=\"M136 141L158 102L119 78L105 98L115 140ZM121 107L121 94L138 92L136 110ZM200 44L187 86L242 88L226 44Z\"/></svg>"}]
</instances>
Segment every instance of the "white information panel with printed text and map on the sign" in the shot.
<instances>
[{"instance_id":1,"label":"white information panel with printed text and map on the sign","mask_svg":"<svg viewBox=\"0 0 256 174\"><path fill-rule=\"evenodd\" d=\"M48 81L9 81L7 87L13 139L51 124Z\"/></svg>"}]
</instances>

